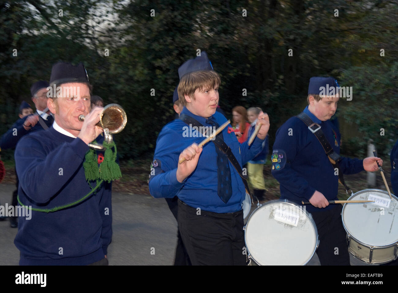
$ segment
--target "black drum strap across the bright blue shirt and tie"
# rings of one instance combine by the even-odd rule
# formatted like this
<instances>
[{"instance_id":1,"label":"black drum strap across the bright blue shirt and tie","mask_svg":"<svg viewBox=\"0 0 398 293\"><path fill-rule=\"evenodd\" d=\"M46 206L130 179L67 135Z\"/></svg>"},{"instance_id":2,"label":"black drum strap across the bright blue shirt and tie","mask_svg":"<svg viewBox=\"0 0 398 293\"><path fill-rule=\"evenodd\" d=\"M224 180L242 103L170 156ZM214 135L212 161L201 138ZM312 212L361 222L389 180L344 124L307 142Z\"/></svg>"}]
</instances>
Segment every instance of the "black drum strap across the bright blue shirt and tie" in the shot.
<instances>
[{"instance_id":1,"label":"black drum strap across the bright blue shirt and tie","mask_svg":"<svg viewBox=\"0 0 398 293\"><path fill-rule=\"evenodd\" d=\"M192 117L181 114L179 116L179 120L187 123L188 125L191 124L193 126L198 127L204 127L203 124L199 123L197 120L193 119ZM232 150L228 145L219 137L219 135L216 136L215 140L213 140L213 143L228 157L228 160L231 162L232 166L234 166L236 172L238 172L240 178L243 181L243 184L245 185L246 192L250 195L250 198L252 199L252 203L254 204L254 201L258 202L258 199L255 195L252 195L249 189L248 181L247 181L247 175L243 174L242 167L240 167L238 160L236 160L234 154L232 153ZM259 204L259 202L258 202Z\"/></svg>"}]
</instances>

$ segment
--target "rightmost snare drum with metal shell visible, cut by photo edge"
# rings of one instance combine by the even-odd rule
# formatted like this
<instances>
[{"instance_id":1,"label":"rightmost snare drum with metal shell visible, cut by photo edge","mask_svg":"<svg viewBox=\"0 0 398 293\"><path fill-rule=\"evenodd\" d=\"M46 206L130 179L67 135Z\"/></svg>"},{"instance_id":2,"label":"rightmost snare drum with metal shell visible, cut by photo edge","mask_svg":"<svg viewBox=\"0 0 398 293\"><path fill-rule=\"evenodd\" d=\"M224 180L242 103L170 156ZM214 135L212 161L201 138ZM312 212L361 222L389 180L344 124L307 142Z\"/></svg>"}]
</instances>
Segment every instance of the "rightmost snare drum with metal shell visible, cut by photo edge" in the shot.
<instances>
[{"instance_id":1,"label":"rightmost snare drum with metal shell visible, cut by photo edge","mask_svg":"<svg viewBox=\"0 0 398 293\"><path fill-rule=\"evenodd\" d=\"M348 251L368 264L384 264L397 258L398 198L386 191L365 189L349 200L375 202L344 204L341 217L347 232Z\"/></svg>"}]
</instances>

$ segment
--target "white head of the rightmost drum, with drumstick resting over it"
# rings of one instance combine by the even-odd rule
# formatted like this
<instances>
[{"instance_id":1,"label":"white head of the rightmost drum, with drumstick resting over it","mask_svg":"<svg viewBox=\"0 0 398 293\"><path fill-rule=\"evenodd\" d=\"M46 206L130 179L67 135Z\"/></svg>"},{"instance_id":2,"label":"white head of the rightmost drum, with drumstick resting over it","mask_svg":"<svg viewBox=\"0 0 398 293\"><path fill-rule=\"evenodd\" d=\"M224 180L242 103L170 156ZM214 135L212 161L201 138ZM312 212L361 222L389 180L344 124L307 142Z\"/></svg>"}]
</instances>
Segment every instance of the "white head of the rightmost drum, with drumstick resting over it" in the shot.
<instances>
[{"instance_id":1,"label":"white head of the rightmost drum, with drumstick resting over it","mask_svg":"<svg viewBox=\"0 0 398 293\"><path fill-rule=\"evenodd\" d=\"M397 197L392 195L391 200L386 191L365 189L353 194L349 200L376 200L344 204L343 225L350 237L368 246L388 246L398 242Z\"/></svg>"}]
</instances>

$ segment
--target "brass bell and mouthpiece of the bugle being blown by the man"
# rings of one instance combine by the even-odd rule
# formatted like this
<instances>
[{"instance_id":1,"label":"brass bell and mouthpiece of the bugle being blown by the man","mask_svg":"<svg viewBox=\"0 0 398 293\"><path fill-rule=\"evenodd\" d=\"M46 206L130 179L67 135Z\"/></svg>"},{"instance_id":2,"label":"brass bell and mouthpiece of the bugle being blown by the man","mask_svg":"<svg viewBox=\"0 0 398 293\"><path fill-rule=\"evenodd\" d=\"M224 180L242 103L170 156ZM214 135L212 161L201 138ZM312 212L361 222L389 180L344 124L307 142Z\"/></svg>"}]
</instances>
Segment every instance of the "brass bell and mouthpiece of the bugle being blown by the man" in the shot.
<instances>
[{"instance_id":1,"label":"brass bell and mouthpiece of the bugle being blown by the man","mask_svg":"<svg viewBox=\"0 0 398 293\"><path fill-rule=\"evenodd\" d=\"M80 121L84 121L84 115L79 115ZM109 134L122 131L127 123L127 115L122 106L118 104L106 105L100 114L100 122L97 124L103 129L108 129Z\"/></svg>"}]
</instances>

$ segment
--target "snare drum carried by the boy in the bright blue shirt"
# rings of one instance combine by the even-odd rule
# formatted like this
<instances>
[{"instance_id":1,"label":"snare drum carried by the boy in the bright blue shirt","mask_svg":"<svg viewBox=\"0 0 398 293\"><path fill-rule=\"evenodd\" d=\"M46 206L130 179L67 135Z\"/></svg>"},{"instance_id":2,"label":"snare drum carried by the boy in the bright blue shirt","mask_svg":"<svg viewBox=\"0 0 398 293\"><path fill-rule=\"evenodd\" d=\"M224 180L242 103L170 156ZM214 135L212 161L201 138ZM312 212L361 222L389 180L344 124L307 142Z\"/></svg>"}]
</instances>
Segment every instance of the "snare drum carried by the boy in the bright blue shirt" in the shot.
<instances>
[{"instance_id":1,"label":"snare drum carried by the boy in the bright blue shirt","mask_svg":"<svg viewBox=\"0 0 398 293\"><path fill-rule=\"evenodd\" d=\"M304 265L319 245L311 214L287 200L256 208L244 231L249 262L259 265Z\"/></svg>"}]
</instances>

